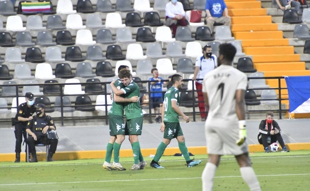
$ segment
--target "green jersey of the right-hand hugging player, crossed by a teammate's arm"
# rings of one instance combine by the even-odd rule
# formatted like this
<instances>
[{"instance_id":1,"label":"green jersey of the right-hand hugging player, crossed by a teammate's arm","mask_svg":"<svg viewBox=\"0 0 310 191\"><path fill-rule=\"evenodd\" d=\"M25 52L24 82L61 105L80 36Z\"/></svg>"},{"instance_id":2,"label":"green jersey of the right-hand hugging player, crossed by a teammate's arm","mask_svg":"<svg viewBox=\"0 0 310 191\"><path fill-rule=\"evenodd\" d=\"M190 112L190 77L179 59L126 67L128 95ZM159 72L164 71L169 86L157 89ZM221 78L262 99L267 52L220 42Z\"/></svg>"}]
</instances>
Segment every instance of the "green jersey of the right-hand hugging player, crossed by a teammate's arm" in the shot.
<instances>
[{"instance_id":1,"label":"green jersey of the right-hand hugging player, crossed by a teammate's arm","mask_svg":"<svg viewBox=\"0 0 310 191\"><path fill-rule=\"evenodd\" d=\"M124 95L126 98L131 98L133 96L140 96L140 88L138 84L134 81L131 81L130 84L124 88L122 88L124 91ZM140 118L143 116L142 109L140 107L140 101L139 102L127 102L124 104L124 110L126 119L134 119L134 118Z\"/></svg>"}]
</instances>

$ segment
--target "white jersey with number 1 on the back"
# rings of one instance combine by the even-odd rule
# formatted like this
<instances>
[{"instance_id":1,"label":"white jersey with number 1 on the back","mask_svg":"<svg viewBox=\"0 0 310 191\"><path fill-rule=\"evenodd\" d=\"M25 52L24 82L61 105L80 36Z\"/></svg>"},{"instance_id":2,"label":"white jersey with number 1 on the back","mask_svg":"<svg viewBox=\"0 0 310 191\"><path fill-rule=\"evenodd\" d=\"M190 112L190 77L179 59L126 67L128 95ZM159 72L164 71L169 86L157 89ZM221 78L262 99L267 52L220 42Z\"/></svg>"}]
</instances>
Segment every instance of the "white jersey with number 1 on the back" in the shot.
<instances>
[{"instance_id":1,"label":"white jersey with number 1 on the back","mask_svg":"<svg viewBox=\"0 0 310 191\"><path fill-rule=\"evenodd\" d=\"M235 112L235 92L237 89L245 90L246 84L246 75L230 65L222 64L207 73L202 85L202 92L206 92L209 99L207 120L238 120Z\"/></svg>"}]
</instances>

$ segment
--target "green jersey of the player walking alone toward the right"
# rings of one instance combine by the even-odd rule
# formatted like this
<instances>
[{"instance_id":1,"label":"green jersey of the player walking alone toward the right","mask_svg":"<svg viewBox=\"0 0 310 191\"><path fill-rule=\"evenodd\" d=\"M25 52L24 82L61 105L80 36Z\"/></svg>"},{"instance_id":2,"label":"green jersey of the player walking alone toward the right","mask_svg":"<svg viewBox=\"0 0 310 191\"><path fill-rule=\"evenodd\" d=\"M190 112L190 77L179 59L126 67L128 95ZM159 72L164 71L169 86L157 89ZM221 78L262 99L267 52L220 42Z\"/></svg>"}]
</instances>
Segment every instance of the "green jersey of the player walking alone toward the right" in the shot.
<instances>
[{"instance_id":1,"label":"green jersey of the player walking alone toward the right","mask_svg":"<svg viewBox=\"0 0 310 191\"><path fill-rule=\"evenodd\" d=\"M170 87L163 97L163 104L165 106L163 121L179 123L180 122L179 114L176 113L174 109L171 107L172 100L176 101L176 104L179 106L180 104L179 89L177 89L174 86Z\"/></svg>"}]
</instances>

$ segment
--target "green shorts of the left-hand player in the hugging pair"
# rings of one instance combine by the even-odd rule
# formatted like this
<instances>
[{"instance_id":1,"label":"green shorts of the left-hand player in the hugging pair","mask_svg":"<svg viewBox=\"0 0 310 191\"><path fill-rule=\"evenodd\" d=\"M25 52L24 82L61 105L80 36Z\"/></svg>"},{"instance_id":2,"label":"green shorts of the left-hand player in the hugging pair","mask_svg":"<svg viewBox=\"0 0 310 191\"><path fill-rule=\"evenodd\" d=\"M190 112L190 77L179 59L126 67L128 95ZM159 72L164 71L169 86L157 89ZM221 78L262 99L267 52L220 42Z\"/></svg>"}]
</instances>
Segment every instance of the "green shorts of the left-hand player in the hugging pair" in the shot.
<instances>
[{"instance_id":1,"label":"green shorts of the left-hand player in the hugging pair","mask_svg":"<svg viewBox=\"0 0 310 191\"><path fill-rule=\"evenodd\" d=\"M109 115L110 135L125 134L125 123L123 116Z\"/></svg>"}]
</instances>

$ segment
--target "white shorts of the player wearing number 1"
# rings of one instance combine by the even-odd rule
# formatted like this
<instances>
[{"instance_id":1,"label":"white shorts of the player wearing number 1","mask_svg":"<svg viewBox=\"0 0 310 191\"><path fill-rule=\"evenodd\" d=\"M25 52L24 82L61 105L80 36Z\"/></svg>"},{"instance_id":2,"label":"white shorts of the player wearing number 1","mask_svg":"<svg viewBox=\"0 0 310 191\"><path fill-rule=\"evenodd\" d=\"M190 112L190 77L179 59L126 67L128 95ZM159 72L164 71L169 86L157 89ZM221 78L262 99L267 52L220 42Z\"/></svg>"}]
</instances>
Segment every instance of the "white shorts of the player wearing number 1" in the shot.
<instances>
[{"instance_id":1,"label":"white shorts of the player wearing number 1","mask_svg":"<svg viewBox=\"0 0 310 191\"><path fill-rule=\"evenodd\" d=\"M235 143L239 139L237 120L207 118L205 133L208 154L236 156L248 152L247 141L240 146Z\"/></svg>"}]
</instances>

